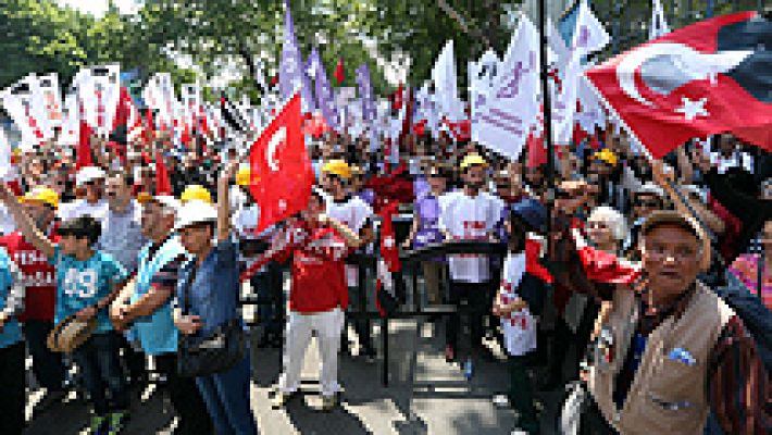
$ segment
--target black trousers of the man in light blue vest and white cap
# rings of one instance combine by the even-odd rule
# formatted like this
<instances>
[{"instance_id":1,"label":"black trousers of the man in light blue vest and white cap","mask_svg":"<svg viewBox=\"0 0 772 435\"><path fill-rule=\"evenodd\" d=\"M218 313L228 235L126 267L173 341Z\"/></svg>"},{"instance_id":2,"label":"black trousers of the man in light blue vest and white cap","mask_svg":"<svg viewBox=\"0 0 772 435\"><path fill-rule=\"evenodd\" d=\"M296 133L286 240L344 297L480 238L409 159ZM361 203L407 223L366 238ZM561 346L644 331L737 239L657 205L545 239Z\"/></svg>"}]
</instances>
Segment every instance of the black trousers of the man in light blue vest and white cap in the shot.
<instances>
[{"instance_id":1,"label":"black trousers of the man in light blue vest and white cap","mask_svg":"<svg viewBox=\"0 0 772 435\"><path fill-rule=\"evenodd\" d=\"M177 374L177 355L157 356L155 369L166 376L165 389L179 418L175 433L179 435L212 434L212 420L196 386L196 378L182 377Z\"/></svg>"}]
</instances>

